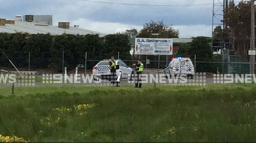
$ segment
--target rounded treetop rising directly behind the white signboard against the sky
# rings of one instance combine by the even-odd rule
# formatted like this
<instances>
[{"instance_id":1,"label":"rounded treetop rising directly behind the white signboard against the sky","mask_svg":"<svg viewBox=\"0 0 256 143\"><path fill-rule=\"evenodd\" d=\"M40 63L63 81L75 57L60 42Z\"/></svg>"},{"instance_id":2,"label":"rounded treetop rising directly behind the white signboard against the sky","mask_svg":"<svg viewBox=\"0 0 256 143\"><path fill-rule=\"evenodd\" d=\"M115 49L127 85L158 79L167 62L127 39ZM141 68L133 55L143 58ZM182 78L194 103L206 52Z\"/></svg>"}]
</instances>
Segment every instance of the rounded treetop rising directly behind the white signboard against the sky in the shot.
<instances>
[{"instance_id":1,"label":"rounded treetop rising directly behind the white signboard against the sky","mask_svg":"<svg viewBox=\"0 0 256 143\"><path fill-rule=\"evenodd\" d=\"M163 21L145 23L137 37L152 38L153 33L159 33L158 38L179 38L179 31L175 30L172 26L165 25Z\"/></svg>"}]
</instances>

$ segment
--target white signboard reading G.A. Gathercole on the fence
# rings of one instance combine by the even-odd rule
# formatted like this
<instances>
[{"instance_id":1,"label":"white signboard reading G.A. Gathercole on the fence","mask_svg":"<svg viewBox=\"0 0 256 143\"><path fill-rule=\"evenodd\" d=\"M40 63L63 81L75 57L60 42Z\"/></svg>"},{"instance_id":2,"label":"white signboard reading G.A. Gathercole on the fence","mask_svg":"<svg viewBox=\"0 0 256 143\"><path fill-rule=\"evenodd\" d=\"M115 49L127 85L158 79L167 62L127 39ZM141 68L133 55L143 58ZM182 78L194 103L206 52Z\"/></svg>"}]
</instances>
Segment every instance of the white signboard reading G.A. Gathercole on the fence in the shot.
<instances>
[{"instance_id":1,"label":"white signboard reading G.A. Gathercole on the fence","mask_svg":"<svg viewBox=\"0 0 256 143\"><path fill-rule=\"evenodd\" d=\"M173 39L136 38L137 55L173 55Z\"/></svg>"}]
</instances>

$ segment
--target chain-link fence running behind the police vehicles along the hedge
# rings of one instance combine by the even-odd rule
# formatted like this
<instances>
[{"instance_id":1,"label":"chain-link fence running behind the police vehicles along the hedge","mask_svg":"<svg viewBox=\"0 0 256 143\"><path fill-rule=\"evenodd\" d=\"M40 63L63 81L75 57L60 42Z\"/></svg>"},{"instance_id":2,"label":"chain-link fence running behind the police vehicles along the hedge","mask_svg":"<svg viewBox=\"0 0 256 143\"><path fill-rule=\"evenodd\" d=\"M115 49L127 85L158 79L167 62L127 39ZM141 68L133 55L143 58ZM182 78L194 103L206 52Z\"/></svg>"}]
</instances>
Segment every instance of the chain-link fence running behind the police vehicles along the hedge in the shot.
<instances>
[{"instance_id":1,"label":"chain-link fence running behind the police vehicles along the hedge","mask_svg":"<svg viewBox=\"0 0 256 143\"><path fill-rule=\"evenodd\" d=\"M65 67L67 67L69 71L74 71L75 68L78 67L80 72L90 72L98 62L109 59L110 56L112 56L102 56L102 58L99 59L98 55L89 55L87 52L81 52L76 55L60 52L55 53L55 56L49 53L42 54L44 58L42 58L42 55L35 55L31 52L8 56L20 71L42 71L48 73L63 73ZM132 67L137 59L141 59L146 69L164 69L169 62L172 61L172 56L166 55L137 55L124 59L118 56L119 54L117 53L116 59L121 59L129 67ZM0 60L0 70L15 71L7 58L0 56ZM195 66L196 72L246 74L250 71L250 63L240 62L236 56L225 55L220 62L197 61L196 57L191 59L191 61Z\"/></svg>"}]
</instances>

